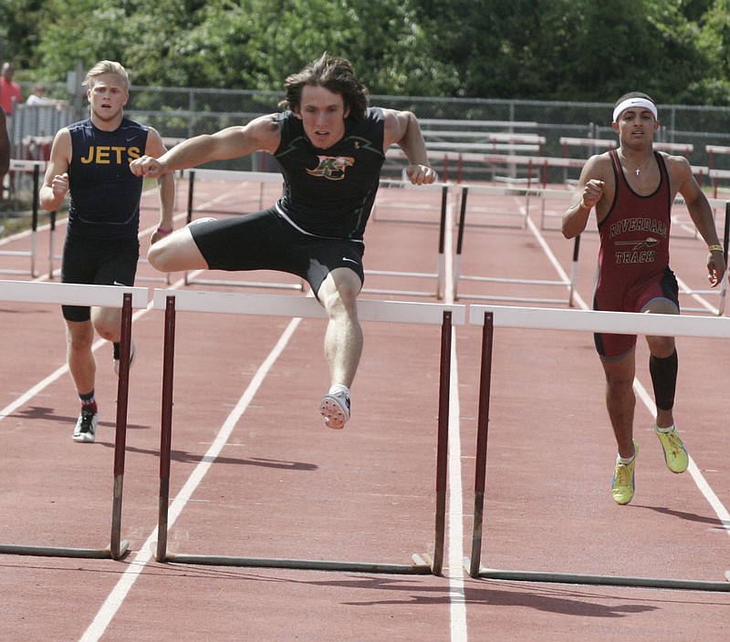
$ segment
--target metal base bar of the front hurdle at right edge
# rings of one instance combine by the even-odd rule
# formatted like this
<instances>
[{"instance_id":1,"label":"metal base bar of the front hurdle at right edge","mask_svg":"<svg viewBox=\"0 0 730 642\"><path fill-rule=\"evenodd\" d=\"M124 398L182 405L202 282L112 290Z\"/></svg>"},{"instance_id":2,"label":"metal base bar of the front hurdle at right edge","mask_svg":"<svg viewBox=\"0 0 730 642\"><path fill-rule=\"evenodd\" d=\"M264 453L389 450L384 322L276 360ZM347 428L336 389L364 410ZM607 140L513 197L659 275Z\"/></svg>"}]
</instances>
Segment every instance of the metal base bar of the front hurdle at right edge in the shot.
<instances>
[{"instance_id":1,"label":"metal base bar of the front hurdle at right edge","mask_svg":"<svg viewBox=\"0 0 730 642\"><path fill-rule=\"evenodd\" d=\"M464 558L464 568L471 568L469 558ZM730 592L730 581L711 582L704 580L683 580L662 577L629 577L621 575L573 575L568 573L544 573L540 571L509 571L496 568L479 567L474 578L491 580L511 580L516 582L536 582L575 585L630 586L631 588L669 588L685 591ZM730 571L725 573L730 580Z\"/></svg>"}]
</instances>

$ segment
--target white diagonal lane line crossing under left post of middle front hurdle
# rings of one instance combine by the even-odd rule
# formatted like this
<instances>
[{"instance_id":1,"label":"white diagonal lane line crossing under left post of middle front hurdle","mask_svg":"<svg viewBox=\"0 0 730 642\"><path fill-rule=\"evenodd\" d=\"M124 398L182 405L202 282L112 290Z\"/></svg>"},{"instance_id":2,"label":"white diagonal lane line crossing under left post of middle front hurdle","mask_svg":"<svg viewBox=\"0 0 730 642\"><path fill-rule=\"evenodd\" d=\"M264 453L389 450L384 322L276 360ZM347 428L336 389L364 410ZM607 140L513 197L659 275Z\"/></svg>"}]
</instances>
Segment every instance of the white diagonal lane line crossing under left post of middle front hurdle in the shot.
<instances>
[{"instance_id":1,"label":"white diagonal lane line crossing under left post of middle front hurdle","mask_svg":"<svg viewBox=\"0 0 730 642\"><path fill-rule=\"evenodd\" d=\"M221 450L223 450L225 442L231 436L231 432L233 432L236 423L243 416L245 410L251 403L251 400L254 399L255 393L258 391L258 388L261 387L261 384L264 382L269 370L276 363L276 359L287 347L289 340L300 322L301 319L298 318L291 320L287 329L276 342L274 349L272 349L268 357L266 357L266 360L256 371L255 377L251 380L248 388L245 389L241 399L238 400L238 403L235 405L235 409L233 409L231 414L228 415L228 418L225 420L221 430L218 431L211 447L205 453L203 459L198 463L198 465L195 466L181 491L172 500L170 513L168 515L169 527L172 527L172 524L175 523L180 514L183 513L183 508L187 502L190 501L193 492L195 492L195 489L200 485L200 482L203 481L205 473L211 468L215 459L218 457ZM132 585L134 585L137 578L140 576L142 569L144 569L145 565L151 561L151 546L154 544L156 539L157 528L155 527L151 535L147 538L147 541L142 544L139 553L130 563L127 570L125 570L121 575L117 585L111 590L110 595L104 601L104 604L99 608L99 612L97 613L97 616L94 617L89 628L87 628L84 635L79 638L79 642L98 642L98 640L104 635L111 620L117 614L117 611L119 611L120 606L124 603L124 599L129 594Z\"/></svg>"}]
</instances>

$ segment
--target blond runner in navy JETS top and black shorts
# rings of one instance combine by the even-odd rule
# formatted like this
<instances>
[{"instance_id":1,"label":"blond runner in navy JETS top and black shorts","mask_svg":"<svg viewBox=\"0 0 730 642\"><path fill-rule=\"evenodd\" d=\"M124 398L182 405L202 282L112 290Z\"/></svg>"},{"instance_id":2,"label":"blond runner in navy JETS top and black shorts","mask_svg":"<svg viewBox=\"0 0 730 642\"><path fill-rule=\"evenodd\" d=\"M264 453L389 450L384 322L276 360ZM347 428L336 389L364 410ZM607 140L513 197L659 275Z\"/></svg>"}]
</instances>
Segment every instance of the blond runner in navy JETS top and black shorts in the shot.
<instances>
[{"instance_id":1,"label":"blond runner in navy JETS top and black shorts","mask_svg":"<svg viewBox=\"0 0 730 642\"><path fill-rule=\"evenodd\" d=\"M89 119L60 129L51 147L40 202L57 210L70 192L68 228L61 264L63 283L134 285L140 243L142 179L130 171L130 161L142 154L160 156L165 148L151 127L123 114L130 80L118 62L102 60L87 74ZM174 179L159 181L160 226L152 241L172 232ZM81 399L73 439L93 441L97 427L94 398L96 361L91 351L94 330L114 344L114 368L119 371L120 308L64 305L68 369ZM134 357L134 347L131 347Z\"/></svg>"}]
</instances>

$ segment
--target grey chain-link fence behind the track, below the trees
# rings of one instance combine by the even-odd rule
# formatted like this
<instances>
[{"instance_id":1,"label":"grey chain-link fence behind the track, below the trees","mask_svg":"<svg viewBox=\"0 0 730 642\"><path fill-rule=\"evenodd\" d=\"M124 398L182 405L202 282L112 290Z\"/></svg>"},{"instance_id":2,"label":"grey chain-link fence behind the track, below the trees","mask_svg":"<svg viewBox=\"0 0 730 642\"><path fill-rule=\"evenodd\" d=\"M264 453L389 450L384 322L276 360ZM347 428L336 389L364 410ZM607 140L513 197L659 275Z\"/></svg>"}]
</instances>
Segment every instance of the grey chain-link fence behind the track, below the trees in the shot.
<instances>
[{"instance_id":1,"label":"grey chain-link fence behind the track, below the trees","mask_svg":"<svg viewBox=\"0 0 730 642\"><path fill-rule=\"evenodd\" d=\"M47 84L57 98L63 96L65 86ZM74 97L69 102L73 104ZM130 102L126 113L130 118L140 120L160 131L162 137L174 143L176 140L191 138L201 133L212 133L232 125L245 124L261 114L278 109L278 102L283 98L280 92L244 91L229 89L193 89L193 88L150 88L132 87ZM79 107L83 103L83 108ZM48 137L55 130L64 127L75 119L86 117L85 100L78 100L77 108L35 108L19 105L13 119L13 151L14 158L37 158L47 154ZM452 140L460 149L477 148L489 152L488 134L522 134L537 137L540 140L539 150L530 153L544 157L568 157L586 159L591 153L602 151L597 142L596 147L586 143L586 139L616 140L611 129L611 112L613 105L609 103L581 102L545 102L537 100L500 100L469 98L413 98L395 96L371 96L370 104L392 109L410 109L422 121L422 129L428 129L433 123L454 121L448 125L453 131L451 138L442 138L442 148L448 147L445 142ZM712 153L713 147L730 146L730 108L693 107L686 105L660 105L659 116L662 128L656 140L664 143L684 144L688 149L684 153L692 165L714 167L730 170L730 153ZM468 121L484 123L484 129L469 127ZM463 132L461 138L454 132ZM565 139L581 139L582 145L568 148ZM507 140L503 136L503 140ZM517 138L515 139L517 140ZM710 146L710 150L708 150ZM492 151L498 153L501 148L493 145ZM691 150L690 150L691 147ZM526 146L524 150L527 150ZM524 150L514 145L508 153L522 154ZM464 154L465 155L465 154ZM471 166L474 178L489 178L474 173L480 171L478 162L466 163ZM216 167L237 169L242 171L269 169L266 160L260 155L236 161L217 163ZM397 163L391 163L391 171L397 171ZM451 177L454 175L452 163ZM485 172L484 168L482 171ZM567 170L554 168L555 180L563 180ZM575 177L576 170L570 170Z\"/></svg>"}]
</instances>

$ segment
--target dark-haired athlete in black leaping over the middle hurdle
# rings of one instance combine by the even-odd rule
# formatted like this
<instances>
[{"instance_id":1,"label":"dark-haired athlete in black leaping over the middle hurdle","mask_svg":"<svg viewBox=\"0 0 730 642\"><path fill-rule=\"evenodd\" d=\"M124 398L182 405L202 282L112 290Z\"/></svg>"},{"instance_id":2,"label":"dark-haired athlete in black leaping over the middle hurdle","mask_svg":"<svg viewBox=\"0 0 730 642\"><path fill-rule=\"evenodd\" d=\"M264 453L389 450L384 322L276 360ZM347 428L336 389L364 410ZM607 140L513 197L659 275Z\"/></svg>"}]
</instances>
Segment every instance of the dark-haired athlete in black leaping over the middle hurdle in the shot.
<instances>
[{"instance_id":1,"label":"dark-haired athlete in black leaping over the middle hurdle","mask_svg":"<svg viewBox=\"0 0 730 642\"><path fill-rule=\"evenodd\" d=\"M319 410L329 428L340 429L349 419L349 387L362 351L356 307L362 235L385 152L392 144L405 151L414 184L432 183L436 172L418 120L409 111L368 108L367 89L347 60L325 54L287 78L285 88L283 113L197 136L130 167L138 176L157 178L257 150L274 155L284 176L276 205L189 225L155 243L149 259L162 272L271 269L307 279L329 318L325 354L331 388Z\"/></svg>"}]
</instances>

